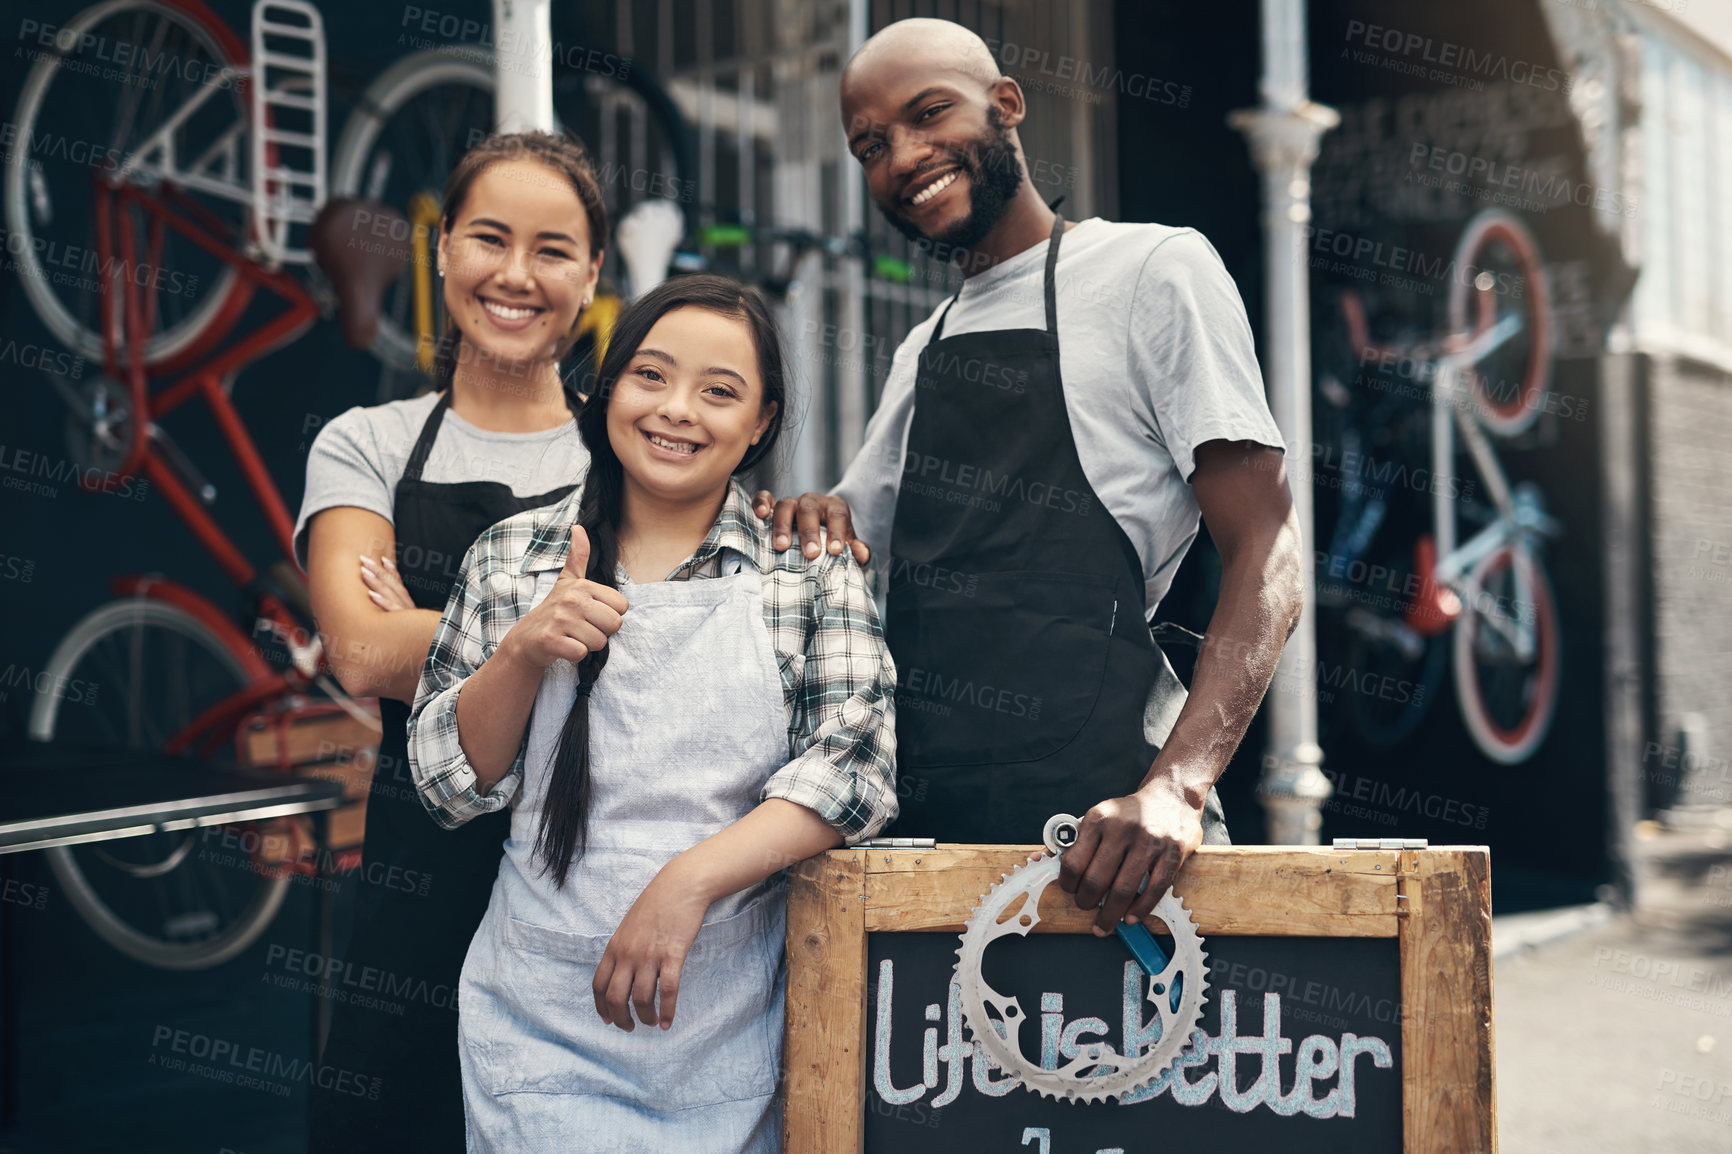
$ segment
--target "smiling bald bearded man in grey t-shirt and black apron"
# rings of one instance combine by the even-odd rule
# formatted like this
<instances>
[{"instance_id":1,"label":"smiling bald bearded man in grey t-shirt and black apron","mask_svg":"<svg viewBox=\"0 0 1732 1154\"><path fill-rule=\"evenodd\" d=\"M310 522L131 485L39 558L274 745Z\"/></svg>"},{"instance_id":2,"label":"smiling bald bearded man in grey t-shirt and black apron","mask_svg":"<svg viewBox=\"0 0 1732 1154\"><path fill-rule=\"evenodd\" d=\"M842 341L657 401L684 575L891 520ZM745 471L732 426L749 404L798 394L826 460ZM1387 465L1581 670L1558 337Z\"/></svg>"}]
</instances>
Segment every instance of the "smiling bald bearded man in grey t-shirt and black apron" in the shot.
<instances>
[{"instance_id":1,"label":"smiling bald bearded man in grey t-shirt and black apron","mask_svg":"<svg viewBox=\"0 0 1732 1154\"><path fill-rule=\"evenodd\" d=\"M1214 781L1299 620L1301 544L1251 326L1192 229L1067 224L1027 180L1022 88L949 21L890 24L842 73L873 201L961 291L897 348L819 525L887 582L902 814L889 833L1032 842L1081 813L1060 884L1095 932L1226 842ZM1148 620L1197 537L1221 589L1192 690Z\"/></svg>"}]
</instances>

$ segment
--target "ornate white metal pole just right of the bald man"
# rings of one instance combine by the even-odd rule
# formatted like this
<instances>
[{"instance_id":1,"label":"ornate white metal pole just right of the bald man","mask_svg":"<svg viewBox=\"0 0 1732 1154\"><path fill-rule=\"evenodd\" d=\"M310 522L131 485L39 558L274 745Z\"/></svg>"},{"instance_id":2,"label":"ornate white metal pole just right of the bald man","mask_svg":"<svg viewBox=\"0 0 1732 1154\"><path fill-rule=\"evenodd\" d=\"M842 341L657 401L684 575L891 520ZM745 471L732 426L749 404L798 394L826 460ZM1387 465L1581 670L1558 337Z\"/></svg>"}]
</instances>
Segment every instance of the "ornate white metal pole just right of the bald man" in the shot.
<instances>
[{"instance_id":1,"label":"ornate white metal pole just right of the bald man","mask_svg":"<svg viewBox=\"0 0 1732 1154\"><path fill-rule=\"evenodd\" d=\"M1341 116L1306 95L1304 0L1263 0L1263 104L1228 116L1263 173L1264 327L1270 411L1287 442L1304 548L1304 612L1268 697L1270 736L1257 795L1275 846L1316 846L1334 788L1316 743L1316 580L1311 570L1311 300L1306 225L1318 137Z\"/></svg>"}]
</instances>

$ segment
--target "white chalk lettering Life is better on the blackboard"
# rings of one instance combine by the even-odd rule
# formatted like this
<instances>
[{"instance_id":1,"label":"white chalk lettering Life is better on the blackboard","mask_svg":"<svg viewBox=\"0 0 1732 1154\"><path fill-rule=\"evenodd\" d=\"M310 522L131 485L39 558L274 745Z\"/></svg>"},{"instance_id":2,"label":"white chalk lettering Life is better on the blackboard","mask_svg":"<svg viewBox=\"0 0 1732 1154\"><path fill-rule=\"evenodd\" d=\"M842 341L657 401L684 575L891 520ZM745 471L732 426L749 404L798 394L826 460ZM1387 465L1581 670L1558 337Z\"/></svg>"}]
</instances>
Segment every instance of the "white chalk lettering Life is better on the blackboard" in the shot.
<instances>
[{"instance_id":1,"label":"white chalk lettering Life is better on the blackboard","mask_svg":"<svg viewBox=\"0 0 1732 1154\"><path fill-rule=\"evenodd\" d=\"M1115 1043L1121 1054L1138 1054L1160 1036L1160 1019L1145 1021L1145 976L1136 962L1124 963L1122 1017ZM1225 988L1218 991L1221 1026L1218 1034L1199 1028L1190 1047L1176 1066L1152 1083L1119 1099L1122 1105L1148 1102L1171 1095L1179 1105L1205 1105L1219 1099L1230 1111L1245 1114L1268 1107L1280 1116L1306 1114L1309 1118L1353 1118L1358 1111L1354 1078L1361 1060L1377 1069L1394 1064L1389 1043L1377 1036L1342 1033L1339 1036L1308 1034L1297 1041L1282 1034L1282 995L1263 993L1263 1033L1242 1033L1238 995ZM963 1093L1005 1097L1020 1090L1017 1078L996 1078L998 1066L965 1038L961 1012L961 986L951 982L949 1005L932 1002L925 1007L921 1031L921 1079L908 1086L894 1085L890 1078L892 1005L895 1000L895 963L883 958L878 963L876 1029L873 1040L873 1088L892 1105L923 1102L942 1109ZM1247 1012L1251 995L1245 996ZM944 1041L939 1041L939 1033ZM1100 1017L1065 1021L1063 995L1041 995L1041 1066L1055 1069L1060 1059L1074 1059L1091 1038L1112 1038L1114 1028ZM1280 1057L1294 1054L1292 1086L1282 1088ZM972 1059L972 1060L970 1060ZM1240 1062L1257 1062L1257 1078L1249 1086L1240 1078ZM942 1076L940 1069L944 1067ZM1247 1069L1249 1073L1249 1069ZM1335 1085L1316 1093L1313 1083L1334 1079ZM940 1088L942 1085L942 1088ZM937 1093L932 1093L937 1092ZM927 1095L932 1093L930 1100Z\"/></svg>"}]
</instances>

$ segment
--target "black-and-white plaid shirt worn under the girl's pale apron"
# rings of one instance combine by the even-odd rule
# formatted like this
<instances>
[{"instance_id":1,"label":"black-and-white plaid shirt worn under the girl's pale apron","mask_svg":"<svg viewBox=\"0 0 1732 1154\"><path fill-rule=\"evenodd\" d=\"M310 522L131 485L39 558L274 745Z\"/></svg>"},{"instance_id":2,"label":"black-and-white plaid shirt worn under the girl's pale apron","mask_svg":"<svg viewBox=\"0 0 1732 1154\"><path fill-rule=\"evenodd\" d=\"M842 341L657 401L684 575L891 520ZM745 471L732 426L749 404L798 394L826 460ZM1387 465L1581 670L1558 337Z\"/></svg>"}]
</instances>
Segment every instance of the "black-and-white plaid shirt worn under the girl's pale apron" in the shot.
<instances>
[{"instance_id":1,"label":"black-and-white plaid shirt worn under the girl's pale apron","mask_svg":"<svg viewBox=\"0 0 1732 1154\"><path fill-rule=\"evenodd\" d=\"M447 828L502 809L523 783L520 745L506 776L487 794L476 788L457 743L457 693L530 610L535 575L565 567L582 492L499 522L462 560L409 716L409 764L421 802ZM764 626L788 709L788 764L771 775L760 799L785 797L812 809L850 846L871 837L897 813L895 667L864 570L849 551L831 556L826 549L816 560L798 549L776 553L769 525L752 513L738 482L729 483L703 544L669 580L719 577L724 554L738 554L762 575ZM624 567L618 584L630 598Z\"/></svg>"}]
</instances>

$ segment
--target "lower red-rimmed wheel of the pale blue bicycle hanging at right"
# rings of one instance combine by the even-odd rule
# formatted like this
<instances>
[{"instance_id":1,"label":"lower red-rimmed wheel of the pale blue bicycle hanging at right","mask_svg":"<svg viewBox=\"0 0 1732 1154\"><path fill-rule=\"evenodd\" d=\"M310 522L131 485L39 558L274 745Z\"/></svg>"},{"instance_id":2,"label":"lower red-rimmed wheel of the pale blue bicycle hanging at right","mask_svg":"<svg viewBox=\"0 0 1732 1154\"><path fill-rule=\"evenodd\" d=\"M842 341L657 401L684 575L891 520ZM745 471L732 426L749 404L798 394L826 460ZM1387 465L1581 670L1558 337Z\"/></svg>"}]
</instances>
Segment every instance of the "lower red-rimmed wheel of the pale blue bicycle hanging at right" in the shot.
<instances>
[{"instance_id":1,"label":"lower red-rimmed wheel of the pale blue bicycle hanging at right","mask_svg":"<svg viewBox=\"0 0 1732 1154\"><path fill-rule=\"evenodd\" d=\"M1528 589L1528 605L1517 596ZM1455 624L1455 695L1462 721L1486 757L1528 761L1557 709L1561 636L1552 582L1538 558L1505 546L1469 574ZM1505 631L1531 617L1533 652L1522 655ZM1495 624L1493 624L1495 622Z\"/></svg>"}]
</instances>

